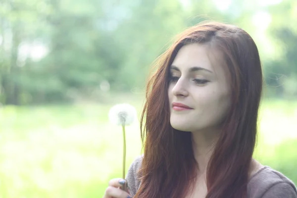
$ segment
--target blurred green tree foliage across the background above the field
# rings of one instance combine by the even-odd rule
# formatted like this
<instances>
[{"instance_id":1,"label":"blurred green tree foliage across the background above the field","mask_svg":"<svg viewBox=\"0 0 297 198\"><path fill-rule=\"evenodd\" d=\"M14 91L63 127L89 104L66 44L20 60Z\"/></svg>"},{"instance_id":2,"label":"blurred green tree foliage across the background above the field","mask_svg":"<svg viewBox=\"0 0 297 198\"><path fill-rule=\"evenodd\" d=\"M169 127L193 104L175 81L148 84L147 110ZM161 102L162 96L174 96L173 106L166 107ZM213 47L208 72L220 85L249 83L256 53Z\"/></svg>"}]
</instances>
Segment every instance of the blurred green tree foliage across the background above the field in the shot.
<instances>
[{"instance_id":1,"label":"blurred green tree foliage across the background above the field","mask_svg":"<svg viewBox=\"0 0 297 198\"><path fill-rule=\"evenodd\" d=\"M203 20L251 34L268 96L297 96L297 2L282 0L1 0L0 102L100 100L143 91L153 60ZM227 5L227 6L226 6Z\"/></svg>"}]
</instances>

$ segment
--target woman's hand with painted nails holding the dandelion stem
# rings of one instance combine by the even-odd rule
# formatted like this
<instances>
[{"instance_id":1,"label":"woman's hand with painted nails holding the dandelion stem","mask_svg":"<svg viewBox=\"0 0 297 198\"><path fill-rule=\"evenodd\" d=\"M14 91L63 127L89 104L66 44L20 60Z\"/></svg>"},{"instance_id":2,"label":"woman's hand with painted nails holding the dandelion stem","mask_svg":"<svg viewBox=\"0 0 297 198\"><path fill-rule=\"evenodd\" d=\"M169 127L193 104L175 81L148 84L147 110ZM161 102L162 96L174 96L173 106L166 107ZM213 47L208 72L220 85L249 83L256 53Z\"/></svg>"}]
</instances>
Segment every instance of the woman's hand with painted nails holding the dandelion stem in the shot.
<instances>
[{"instance_id":1,"label":"woman's hand with painted nails holding the dandelion stem","mask_svg":"<svg viewBox=\"0 0 297 198\"><path fill-rule=\"evenodd\" d=\"M128 192L122 190L125 186L127 186L127 180L120 178L110 180L103 198L132 198L128 190Z\"/></svg>"}]
</instances>

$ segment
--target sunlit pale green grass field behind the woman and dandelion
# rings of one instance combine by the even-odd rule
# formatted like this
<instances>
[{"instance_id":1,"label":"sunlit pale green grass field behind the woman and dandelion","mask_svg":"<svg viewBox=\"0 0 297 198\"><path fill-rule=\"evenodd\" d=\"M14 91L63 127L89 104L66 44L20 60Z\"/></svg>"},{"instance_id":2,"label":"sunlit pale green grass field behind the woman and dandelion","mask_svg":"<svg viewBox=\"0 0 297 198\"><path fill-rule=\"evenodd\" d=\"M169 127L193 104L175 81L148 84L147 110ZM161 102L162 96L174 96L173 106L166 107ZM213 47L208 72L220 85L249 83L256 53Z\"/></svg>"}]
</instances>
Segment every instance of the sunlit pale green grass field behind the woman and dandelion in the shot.
<instances>
[{"instance_id":1,"label":"sunlit pale green grass field behind the woman and dandelion","mask_svg":"<svg viewBox=\"0 0 297 198\"><path fill-rule=\"evenodd\" d=\"M121 127L108 122L121 102L140 115L142 97L104 104L0 108L0 198L101 198L121 177ZM255 156L297 182L297 102L265 100ZM126 127L127 165L141 154L139 121Z\"/></svg>"}]
</instances>

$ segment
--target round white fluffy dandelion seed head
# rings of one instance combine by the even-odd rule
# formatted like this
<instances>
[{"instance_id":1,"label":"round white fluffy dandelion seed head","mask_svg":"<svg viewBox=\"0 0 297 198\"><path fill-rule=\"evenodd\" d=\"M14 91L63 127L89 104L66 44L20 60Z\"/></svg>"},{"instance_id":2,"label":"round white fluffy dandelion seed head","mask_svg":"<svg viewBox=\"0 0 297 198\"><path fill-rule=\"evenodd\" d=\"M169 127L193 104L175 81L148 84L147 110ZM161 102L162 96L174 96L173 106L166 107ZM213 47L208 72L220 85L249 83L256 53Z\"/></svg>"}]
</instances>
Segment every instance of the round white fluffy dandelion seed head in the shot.
<instances>
[{"instance_id":1,"label":"round white fluffy dandelion seed head","mask_svg":"<svg viewBox=\"0 0 297 198\"><path fill-rule=\"evenodd\" d=\"M126 126L133 123L137 113L135 107L130 104L116 104L110 108L108 117L111 123Z\"/></svg>"}]
</instances>

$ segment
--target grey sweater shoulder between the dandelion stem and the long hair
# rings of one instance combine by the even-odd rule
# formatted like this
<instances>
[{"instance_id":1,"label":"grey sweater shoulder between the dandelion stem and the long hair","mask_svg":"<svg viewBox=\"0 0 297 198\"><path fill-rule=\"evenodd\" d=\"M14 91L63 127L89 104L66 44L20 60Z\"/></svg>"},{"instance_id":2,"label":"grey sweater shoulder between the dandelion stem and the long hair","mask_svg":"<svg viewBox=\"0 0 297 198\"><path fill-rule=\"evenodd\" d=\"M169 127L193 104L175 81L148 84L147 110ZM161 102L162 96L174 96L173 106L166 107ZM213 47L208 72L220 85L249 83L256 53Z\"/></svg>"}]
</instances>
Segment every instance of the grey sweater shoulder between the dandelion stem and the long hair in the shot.
<instances>
[{"instance_id":1,"label":"grey sweater shoulder between the dandelion stem and the long hair","mask_svg":"<svg viewBox=\"0 0 297 198\"><path fill-rule=\"evenodd\" d=\"M141 168L143 160L143 155L140 155L134 159L132 164L129 167L126 180L128 181L128 187L130 194L134 196L139 189L140 186L140 174L139 169Z\"/></svg>"}]
</instances>

